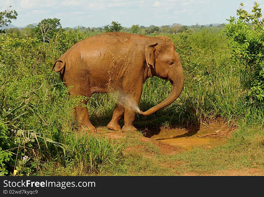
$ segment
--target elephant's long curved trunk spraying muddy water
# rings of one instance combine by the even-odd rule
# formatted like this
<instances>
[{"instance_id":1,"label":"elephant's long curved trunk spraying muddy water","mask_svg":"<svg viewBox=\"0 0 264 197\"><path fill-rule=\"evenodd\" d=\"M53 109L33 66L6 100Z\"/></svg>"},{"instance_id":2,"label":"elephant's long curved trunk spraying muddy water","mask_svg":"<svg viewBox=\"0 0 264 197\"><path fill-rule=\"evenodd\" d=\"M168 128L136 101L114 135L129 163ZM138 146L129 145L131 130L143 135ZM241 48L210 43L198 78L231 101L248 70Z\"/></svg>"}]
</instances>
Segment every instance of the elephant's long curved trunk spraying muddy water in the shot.
<instances>
[{"instance_id":1,"label":"elephant's long curved trunk spraying muddy water","mask_svg":"<svg viewBox=\"0 0 264 197\"><path fill-rule=\"evenodd\" d=\"M140 112L140 114L142 114L144 116L153 114L154 112L156 112L162 108L167 107L168 105L173 103L179 97L179 95L182 92L183 83L184 83L184 75L183 75L182 66L180 66L180 68L176 69L172 76L173 77L169 78L172 85L173 85L173 89L172 89L170 95L163 102L159 103L158 105L155 105L154 107L150 108L148 111Z\"/></svg>"}]
</instances>

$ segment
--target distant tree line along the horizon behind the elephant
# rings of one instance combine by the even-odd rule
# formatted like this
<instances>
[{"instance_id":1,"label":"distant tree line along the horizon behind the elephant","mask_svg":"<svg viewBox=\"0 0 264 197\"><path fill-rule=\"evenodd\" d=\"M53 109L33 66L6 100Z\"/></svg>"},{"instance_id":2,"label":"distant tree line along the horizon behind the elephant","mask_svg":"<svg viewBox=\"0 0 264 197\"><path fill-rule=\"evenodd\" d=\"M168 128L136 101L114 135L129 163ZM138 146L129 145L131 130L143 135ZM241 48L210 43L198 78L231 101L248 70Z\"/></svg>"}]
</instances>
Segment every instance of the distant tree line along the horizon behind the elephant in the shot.
<instances>
[{"instance_id":1,"label":"distant tree line along the horizon behind the elephant","mask_svg":"<svg viewBox=\"0 0 264 197\"><path fill-rule=\"evenodd\" d=\"M148 36L156 36L156 35L175 35L186 30L194 31L200 29L207 29L207 28L216 28L216 29L223 29L225 24L209 24L209 25L191 25L186 26L179 23L173 23L172 25L163 25L163 26L155 26L150 25L140 26L140 25L132 25L131 27L123 27L122 24L112 21L111 25L101 26L101 27L84 27L84 26L76 26L73 28L65 27L62 28L60 19L53 18L53 19L44 19L38 24L29 24L26 27L16 27L13 25L8 25L2 27L0 32L6 34L16 33L19 38L26 38L26 37L35 37L41 39L43 42L48 42L49 39L54 35L55 32L59 31L68 31L69 29L82 33L84 36L93 36L98 35L104 32L128 32L128 33L135 33L135 34L142 34Z\"/></svg>"}]
</instances>

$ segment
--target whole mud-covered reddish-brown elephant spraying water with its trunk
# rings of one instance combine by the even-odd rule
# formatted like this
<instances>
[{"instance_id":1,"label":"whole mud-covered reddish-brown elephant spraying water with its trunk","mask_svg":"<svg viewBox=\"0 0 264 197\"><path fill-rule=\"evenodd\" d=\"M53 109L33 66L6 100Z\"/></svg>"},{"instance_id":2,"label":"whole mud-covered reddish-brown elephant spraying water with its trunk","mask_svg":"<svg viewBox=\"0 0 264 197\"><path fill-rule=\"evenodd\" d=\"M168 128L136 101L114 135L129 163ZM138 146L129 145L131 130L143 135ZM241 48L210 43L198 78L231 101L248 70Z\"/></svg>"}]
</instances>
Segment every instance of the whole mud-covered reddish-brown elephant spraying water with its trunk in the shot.
<instances>
[{"instance_id":1,"label":"whole mud-covered reddish-brown elephant spraying water with its trunk","mask_svg":"<svg viewBox=\"0 0 264 197\"><path fill-rule=\"evenodd\" d=\"M182 92L184 72L175 45L166 36L149 37L124 32L107 32L88 37L74 44L59 59L52 70L60 73L64 85L72 96L91 97L94 93L122 92L118 96L108 129L121 130L119 121L124 117L122 132L137 131L133 126L135 115L150 115L174 102ZM122 105L124 94L139 104L143 83L149 77L169 80L173 88L170 95L158 105L142 112ZM95 132L87 99L74 109L79 127Z\"/></svg>"}]
</instances>

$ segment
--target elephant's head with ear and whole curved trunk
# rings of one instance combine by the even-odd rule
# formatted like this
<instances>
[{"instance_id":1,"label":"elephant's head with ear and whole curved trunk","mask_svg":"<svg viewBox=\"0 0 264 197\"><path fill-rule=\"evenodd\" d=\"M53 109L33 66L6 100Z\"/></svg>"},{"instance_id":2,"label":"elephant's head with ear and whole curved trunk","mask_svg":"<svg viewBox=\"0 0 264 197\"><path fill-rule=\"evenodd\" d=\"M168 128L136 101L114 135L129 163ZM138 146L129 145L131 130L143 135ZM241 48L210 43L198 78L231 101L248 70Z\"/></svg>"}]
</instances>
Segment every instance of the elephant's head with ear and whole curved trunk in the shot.
<instances>
[{"instance_id":1,"label":"elephant's head with ear and whole curved trunk","mask_svg":"<svg viewBox=\"0 0 264 197\"><path fill-rule=\"evenodd\" d=\"M147 116L170 105L179 97L184 84L184 74L179 54L176 52L173 42L167 37L159 37L157 42L147 44L145 56L151 77L155 75L170 80L173 86L170 95L163 102L145 112L140 112Z\"/></svg>"}]
</instances>

